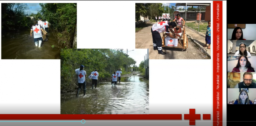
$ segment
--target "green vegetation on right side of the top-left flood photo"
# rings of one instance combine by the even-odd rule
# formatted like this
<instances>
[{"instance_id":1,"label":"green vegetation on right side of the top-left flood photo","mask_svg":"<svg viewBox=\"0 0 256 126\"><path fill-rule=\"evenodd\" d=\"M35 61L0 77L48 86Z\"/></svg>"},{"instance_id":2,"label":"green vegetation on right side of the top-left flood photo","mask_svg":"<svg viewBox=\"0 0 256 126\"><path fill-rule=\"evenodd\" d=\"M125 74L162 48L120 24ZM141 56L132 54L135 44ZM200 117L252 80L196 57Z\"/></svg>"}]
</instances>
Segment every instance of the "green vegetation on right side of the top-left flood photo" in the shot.
<instances>
[{"instance_id":1,"label":"green vegetation on right side of the top-left flood photo","mask_svg":"<svg viewBox=\"0 0 256 126\"><path fill-rule=\"evenodd\" d=\"M40 13L51 24L52 33L58 44L64 48L73 48L77 26L77 3L40 3L40 6Z\"/></svg>"}]
</instances>

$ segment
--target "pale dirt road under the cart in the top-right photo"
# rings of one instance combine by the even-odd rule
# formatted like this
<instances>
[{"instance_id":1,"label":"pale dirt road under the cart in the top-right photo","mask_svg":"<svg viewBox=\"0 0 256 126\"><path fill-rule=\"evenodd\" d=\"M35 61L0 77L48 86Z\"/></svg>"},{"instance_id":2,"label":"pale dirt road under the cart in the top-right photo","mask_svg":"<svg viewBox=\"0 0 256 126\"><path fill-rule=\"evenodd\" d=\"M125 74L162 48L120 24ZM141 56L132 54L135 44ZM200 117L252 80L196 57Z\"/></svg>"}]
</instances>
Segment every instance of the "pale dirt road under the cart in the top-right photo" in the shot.
<instances>
[{"instance_id":1,"label":"pale dirt road under the cart in the top-right photo","mask_svg":"<svg viewBox=\"0 0 256 126\"><path fill-rule=\"evenodd\" d=\"M165 55L158 54L157 50L153 50L153 40L151 34L151 23L148 27L144 27L141 31L135 33L135 48L148 48L149 59L210 59L201 48L197 47L194 42L188 40L188 48L186 51L177 48L163 48ZM161 37L163 36L160 34Z\"/></svg>"}]
</instances>

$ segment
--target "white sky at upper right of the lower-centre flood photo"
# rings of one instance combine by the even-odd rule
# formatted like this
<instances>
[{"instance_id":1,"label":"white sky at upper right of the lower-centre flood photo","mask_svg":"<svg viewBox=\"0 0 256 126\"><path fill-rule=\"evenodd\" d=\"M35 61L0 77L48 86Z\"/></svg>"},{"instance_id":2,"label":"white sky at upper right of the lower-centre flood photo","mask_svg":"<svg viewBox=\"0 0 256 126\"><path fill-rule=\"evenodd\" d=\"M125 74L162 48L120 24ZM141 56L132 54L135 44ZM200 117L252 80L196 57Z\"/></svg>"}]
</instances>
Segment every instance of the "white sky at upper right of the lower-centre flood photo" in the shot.
<instances>
[{"instance_id":1,"label":"white sky at upper right of the lower-centre flood photo","mask_svg":"<svg viewBox=\"0 0 256 126\"><path fill-rule=\"evenodd\" d=\"M127 49L123 49L123 52L126 54ZM134 50L134 51L131 51ZM130 52L129 52L130 51ZM141 61L144 61L144 56L148 57L148 49L128 49L129 57L133 58L136 61L137 67L139 67ZM146 57L145 57L146 58Z\"/></svg>"}]
</instances>

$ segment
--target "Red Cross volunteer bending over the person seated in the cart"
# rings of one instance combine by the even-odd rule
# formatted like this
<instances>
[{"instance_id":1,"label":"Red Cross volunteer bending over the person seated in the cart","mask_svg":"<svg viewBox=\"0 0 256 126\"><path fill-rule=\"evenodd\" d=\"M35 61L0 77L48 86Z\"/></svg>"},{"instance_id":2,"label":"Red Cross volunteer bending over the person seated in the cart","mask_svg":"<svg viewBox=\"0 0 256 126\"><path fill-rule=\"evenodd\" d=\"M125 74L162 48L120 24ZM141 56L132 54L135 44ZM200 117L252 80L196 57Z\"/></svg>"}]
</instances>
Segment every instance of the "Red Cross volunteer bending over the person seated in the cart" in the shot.
<instances>
[{"instance_id":1,"label":"Red Cross volunteer bending over the person seated in the cart","mask_svg":"<svg viewBox=\"0 0 256 126\"><path fill-rule=\"evenodd\" d=\"M175 35L174 31L172 30L174 27L176 27L176 23L169 22L169 21L159 22L152 26L151 33L153 38L153 46L154 46L154 50L158 50L158 54L162 54L162 55L166 54L165 52L162 51L162 38L160 33L166 32L166 35L169 36L170 38L175 38L175 39L178 38L177 35ZM171 33L174 36L170 34L169 28Z\"/></svg>"}]
</instances>

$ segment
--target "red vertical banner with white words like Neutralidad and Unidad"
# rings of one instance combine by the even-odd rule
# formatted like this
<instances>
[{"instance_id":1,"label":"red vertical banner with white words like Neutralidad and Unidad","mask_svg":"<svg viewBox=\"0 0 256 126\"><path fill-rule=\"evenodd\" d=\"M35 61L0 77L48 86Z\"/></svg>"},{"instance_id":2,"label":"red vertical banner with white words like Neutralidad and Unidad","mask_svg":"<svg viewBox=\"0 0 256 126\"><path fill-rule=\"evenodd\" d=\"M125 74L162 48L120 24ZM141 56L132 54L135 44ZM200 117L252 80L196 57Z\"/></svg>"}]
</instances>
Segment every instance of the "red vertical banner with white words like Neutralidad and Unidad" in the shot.
<instances>
[{"instance_id":1,"label":"red vertical banner with white words like Neutralidad and Unidad","mask_svg":"<svg viewBox=\"0 0 256 126\"><path fill-rule=\"evenodd\" d=\"M213 126L222 126L222 1L213 1Z\"/></svg>"}]
</instances>

